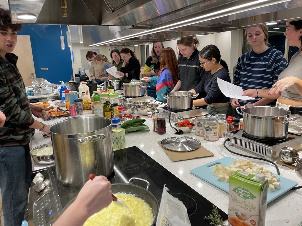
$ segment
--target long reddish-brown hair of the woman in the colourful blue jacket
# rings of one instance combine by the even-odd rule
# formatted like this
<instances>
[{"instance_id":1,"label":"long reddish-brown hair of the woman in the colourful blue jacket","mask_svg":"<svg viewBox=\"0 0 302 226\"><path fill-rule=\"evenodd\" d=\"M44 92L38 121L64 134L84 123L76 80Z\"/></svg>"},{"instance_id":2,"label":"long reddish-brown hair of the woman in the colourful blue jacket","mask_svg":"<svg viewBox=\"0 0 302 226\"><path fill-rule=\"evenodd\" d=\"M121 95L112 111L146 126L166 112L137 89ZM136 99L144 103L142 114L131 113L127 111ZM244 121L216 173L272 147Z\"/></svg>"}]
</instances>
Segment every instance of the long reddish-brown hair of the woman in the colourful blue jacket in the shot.
<instances>
[{"instance_id":1,"label":"long reddish-brown hair of the woman in the colourful blue jacket","mask_svg":"<svg viewBox=\"0 0 302 226\"><path fill-rule=\"evenodd\" d=\"M160 62L160 68L159 68L159 74L162 72L162 69L164 67L167 67L171 73L172 73L172 79L174 85L178 82L178 66L177 66L177 59L175 56L175 52L172 48L167 47L162 49L162 52L160 54L161 62Z\"/></svg>"}]
</instances>

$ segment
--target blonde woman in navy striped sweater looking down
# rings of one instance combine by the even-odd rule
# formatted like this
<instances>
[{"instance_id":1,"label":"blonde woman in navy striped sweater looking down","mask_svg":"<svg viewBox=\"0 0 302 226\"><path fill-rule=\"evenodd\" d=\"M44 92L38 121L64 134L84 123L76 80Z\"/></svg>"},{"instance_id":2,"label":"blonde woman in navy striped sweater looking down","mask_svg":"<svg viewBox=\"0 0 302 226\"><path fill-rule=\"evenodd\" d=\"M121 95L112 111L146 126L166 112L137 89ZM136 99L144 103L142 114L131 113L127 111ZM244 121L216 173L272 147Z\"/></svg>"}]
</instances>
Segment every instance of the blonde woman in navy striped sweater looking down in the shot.
<instances>
[{"instance_id":1,"label":"blonde woman in navy striped sweater looking down","mask_svg":"<svg viewBox=\"0 0 302 226\"><path fill-rule=\"evenodd\" d=\"M269 89L278 79L279 74L288 66L283 54L268 45L268 27L249 27L245 32L246 39L252 50L241 55L237 62L233 83L243 90ZM274 102L268 98L256 98L256 100L232 100L232 107L238 106L264 106ZM235 112L236 117L239 117ZM240 116L242 117L242 116Z\"/></svg>"}]
</instances>

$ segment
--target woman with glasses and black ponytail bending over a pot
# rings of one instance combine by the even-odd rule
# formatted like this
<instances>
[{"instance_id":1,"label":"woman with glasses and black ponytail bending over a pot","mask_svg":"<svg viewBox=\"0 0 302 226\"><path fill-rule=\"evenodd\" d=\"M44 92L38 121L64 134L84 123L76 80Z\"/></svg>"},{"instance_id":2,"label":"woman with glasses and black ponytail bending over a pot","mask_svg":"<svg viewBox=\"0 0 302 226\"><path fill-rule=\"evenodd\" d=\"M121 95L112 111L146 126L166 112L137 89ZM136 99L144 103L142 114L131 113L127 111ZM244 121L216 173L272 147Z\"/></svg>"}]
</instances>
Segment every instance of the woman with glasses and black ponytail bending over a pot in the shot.
<instances>
[{"instance_id":1,"label":"woman with glasses and black ponytail bending over a pot","mask_svg":"<svg viewBox=\"0 0 302 226\"><path fill-rule=\"evenodd\" d=\"M217 84L217 78L231 82L228 66L221 59L219 49L214 45L204 47L199 53L199 60L206 73L200 83L189 92L193 92L195 95L205 91L207 96L202 99L194 99L193 104L195 106L207 105L207 110L213 114L219 113L232 116L233 110L230 105L230 98L223 95Z\"/></svg>"}]
</instances>

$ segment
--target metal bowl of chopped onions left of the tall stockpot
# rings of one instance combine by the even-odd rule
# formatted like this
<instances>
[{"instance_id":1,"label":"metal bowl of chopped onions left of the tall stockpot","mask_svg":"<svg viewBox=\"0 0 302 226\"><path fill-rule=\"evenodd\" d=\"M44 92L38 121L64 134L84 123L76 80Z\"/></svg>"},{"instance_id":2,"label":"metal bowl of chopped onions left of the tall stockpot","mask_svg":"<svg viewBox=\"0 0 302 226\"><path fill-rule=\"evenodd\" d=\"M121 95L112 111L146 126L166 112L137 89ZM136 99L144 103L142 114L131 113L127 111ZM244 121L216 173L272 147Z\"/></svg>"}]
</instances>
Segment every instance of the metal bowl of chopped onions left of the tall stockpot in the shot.
<instances>
[{"instance_id":1,"label":"metal bowl of chopped onions left of the tall stockpot","mask_svg":"<svg viewBox=\"0 0 302 226\"><path fill-rule=\"evenodd\" d=\"M33 157L34 161L42 164L49 165L55 162L53 158L53 145L52 143L43 144L37 146L29 152L29 154Z\"/></svg>"}]
</instances>

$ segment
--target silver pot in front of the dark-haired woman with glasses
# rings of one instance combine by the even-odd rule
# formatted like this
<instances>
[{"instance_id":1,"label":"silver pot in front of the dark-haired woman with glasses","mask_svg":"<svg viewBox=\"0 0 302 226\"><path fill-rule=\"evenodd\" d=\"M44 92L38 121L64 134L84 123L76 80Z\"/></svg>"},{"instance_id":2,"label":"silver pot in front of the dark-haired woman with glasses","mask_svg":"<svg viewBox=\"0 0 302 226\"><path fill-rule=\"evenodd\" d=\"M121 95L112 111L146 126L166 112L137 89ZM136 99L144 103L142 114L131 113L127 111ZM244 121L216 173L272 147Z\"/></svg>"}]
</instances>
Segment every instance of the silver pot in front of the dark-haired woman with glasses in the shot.
<instances>
[{"instance_id":1,"label":"silver pot in front of the dark-haired woman with glasses","mask_svg":"<svg viewBox=\"0 0 302 226\"><path fill-rule=\"evenodd\" d=\"M171 110L186 110L193 107L193 99L198 95L199 93L193 95L193 92L178 91L162 94L162 97L167 99Z\"/></svg>"}]
</instances>

